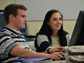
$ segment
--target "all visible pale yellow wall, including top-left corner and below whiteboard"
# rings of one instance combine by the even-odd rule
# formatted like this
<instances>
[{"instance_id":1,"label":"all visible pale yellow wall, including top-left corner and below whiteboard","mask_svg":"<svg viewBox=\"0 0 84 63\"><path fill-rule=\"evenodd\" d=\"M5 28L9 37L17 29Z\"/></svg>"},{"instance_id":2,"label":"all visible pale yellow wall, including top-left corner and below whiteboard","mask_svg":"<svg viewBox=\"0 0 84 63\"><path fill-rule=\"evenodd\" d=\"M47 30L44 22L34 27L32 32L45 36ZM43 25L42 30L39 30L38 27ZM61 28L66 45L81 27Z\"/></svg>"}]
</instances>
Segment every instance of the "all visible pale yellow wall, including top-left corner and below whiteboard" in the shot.
<instances>
[{"instance_id":1,"label":"all visible pale yellow wall, including top-left corner and below whiteboard","mask_svg":"<svg viewBox=\"0 0 84 63\"><path fill-rule=\"evenodd\" d=\"M8 4L12 4L12 3L15 3L15 0L0 0L0 10L4 10L5 6L7 6ZM75 22L76 20L64 20L63 21L63 28L64 30L69 32L70 35L72 35ZM28 35L36 35L40 27L42 26L42 23L43 23L42 20L27 21Z\"/></svg>"}]
</instances>

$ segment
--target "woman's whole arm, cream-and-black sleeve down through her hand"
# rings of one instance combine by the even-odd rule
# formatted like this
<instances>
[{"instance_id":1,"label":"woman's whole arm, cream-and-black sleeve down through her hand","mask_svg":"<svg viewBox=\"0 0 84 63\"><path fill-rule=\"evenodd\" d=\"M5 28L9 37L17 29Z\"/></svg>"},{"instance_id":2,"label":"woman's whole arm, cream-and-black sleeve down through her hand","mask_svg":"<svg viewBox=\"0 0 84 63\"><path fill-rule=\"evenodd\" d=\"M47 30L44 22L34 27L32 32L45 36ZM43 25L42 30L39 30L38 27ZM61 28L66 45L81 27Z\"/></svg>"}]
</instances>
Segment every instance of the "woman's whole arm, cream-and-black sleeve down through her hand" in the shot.
<instances>
[{"instance_id":1,"label":"woman's whole arm, cream-and-black sleeve down through her hand","mask_svg":"<svg viewBox=\"0 0 84 63\"><path fill-rule=\"evenodd\" d=\"M37 52L47 53L47 50L49 48L51 48L51 49L48 50L50 53L65 51L65 47L61 47L61 46L54 47L54 48L50 47L51 45L50 45L49 40L48 40L46 35L38 35L37 45L39 47L39 48L37 48L37 50L39 50Z\"/></svg>"}]
</instances>

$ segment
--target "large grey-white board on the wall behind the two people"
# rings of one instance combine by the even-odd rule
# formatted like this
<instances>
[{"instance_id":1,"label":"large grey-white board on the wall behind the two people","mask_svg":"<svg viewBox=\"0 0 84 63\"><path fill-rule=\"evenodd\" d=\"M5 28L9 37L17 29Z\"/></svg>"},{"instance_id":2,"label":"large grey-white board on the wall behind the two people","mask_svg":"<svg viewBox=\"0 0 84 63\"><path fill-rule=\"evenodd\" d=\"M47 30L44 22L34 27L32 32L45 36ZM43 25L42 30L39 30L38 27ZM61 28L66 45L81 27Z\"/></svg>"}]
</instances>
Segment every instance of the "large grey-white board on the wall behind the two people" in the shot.
<instances>
[{"instance_id":1,"label":"large grey-white board on the wall behind the two people","mask_svg":"<svg viewBox=\"0 0 84 63\"><path fill-rule=\"evenodd\" d=\"M84 0L15 0L27 7L28 20L43 20L47 11L57 9L63 19L77 19L80 10L84 10Z\"/></svg>"}]
</instances>

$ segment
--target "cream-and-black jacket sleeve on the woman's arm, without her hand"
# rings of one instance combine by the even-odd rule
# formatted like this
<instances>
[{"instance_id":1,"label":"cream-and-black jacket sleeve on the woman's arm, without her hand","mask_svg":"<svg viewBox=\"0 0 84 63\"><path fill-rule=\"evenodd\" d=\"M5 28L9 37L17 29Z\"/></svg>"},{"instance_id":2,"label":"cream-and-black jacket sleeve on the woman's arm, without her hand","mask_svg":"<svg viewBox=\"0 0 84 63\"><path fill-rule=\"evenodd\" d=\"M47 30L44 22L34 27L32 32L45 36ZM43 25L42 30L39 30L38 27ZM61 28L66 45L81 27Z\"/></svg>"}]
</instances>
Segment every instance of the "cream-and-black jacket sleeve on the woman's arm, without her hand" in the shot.
<instances>
[{"instance_id":1,"label":"cream-and-black jacket sleeve on the woman's arm, without her hand","mask_svg":"<svg viewBox=\"0 0 84 63\"><path fill-rule=\"evenodd\" d=\"M37 45L37 52L44 52L50 46L48 37L46 35L38 35L35 42L37 43L35 44Z\"/></svg>"}]
</instances>

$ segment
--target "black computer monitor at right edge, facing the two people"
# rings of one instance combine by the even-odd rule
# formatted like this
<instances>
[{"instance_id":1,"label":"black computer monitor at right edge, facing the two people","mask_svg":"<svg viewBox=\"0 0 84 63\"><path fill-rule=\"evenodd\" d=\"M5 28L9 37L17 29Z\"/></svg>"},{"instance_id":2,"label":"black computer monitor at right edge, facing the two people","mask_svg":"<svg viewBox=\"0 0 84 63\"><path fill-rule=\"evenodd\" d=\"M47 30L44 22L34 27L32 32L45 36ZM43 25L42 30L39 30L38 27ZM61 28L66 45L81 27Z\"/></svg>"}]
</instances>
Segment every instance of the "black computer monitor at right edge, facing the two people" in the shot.
<instances>
[{"instance_id":1,"label":"black computer monitor at right edge, facing the two people","mask_svg":"<svg viewBox=\"0 0 84 63\"><path fill-rule=\"evenodd\" d=\"M84 45L84 11L80 11L69 46Z\"/></svg>"}]
</instances>

